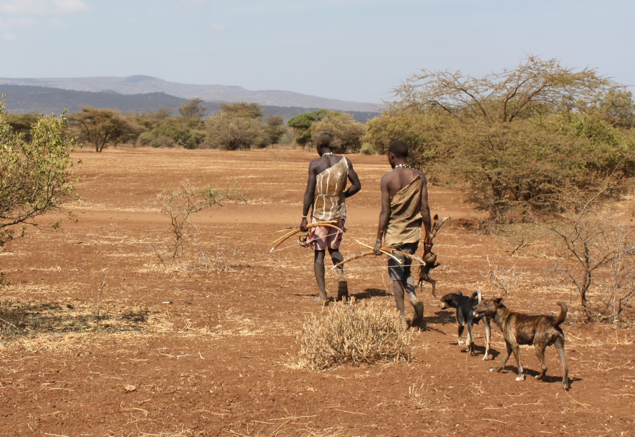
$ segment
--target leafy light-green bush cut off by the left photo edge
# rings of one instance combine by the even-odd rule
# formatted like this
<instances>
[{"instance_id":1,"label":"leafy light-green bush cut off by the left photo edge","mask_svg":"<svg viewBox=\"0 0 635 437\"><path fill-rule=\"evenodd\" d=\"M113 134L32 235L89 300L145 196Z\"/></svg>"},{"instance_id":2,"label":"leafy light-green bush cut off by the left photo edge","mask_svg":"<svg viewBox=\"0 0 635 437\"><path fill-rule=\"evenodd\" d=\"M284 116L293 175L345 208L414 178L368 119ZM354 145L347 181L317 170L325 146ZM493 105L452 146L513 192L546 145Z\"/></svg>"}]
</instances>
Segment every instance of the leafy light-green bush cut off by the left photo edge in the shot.
<instances>
[{"instance_id":1,"label":"leafy light-green bush cut off by the left photo edge","mask_svg":"<svg viewBox=\"0 0 635 437\"><path fill-rule=\"evenodd\" d=\"M60 212L64 203L76 198L70 168L81 161L70 159L75 140L65 139L66 124L64 114L59 118L55 114L37 116L27 142L23 133L7 123L0 102L0 246L23 236L26 225L40 227L38 217ZM57 229L61 224L58 220L51 227Z\"/></svg>"}]
</instances>

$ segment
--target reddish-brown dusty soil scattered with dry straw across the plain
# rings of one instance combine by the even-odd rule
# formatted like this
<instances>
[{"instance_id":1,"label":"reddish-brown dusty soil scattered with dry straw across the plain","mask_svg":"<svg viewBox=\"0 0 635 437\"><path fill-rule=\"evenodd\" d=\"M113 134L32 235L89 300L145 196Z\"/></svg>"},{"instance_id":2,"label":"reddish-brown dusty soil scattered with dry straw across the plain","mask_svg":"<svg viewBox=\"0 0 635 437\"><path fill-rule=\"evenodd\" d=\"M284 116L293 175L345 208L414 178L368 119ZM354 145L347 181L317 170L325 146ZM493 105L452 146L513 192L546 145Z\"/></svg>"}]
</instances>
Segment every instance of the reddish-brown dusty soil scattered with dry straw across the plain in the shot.
<instances>
[{"instance_id":1,"label":"reddish-brown dusty soil scattered with dry straw across the plain","mask_svg":"<svg viewBox=\"0 0 635 437\"><path fill-rule=\"evenodd\" d=\"M427 330L412 334L410 363L296 370L295 336L307 314L321 311L311 303L312 253L269 253L268 244L299 222L308 152L124 149L77 158L85 198L73 206L77 224L29 229L0 254L11 281L1 288L0 317L15 325L3 324L0 342L2 435L635 433L632 330L566 322L566 393L552 347L542 381L516 382L513 358L504 372L488 372L504 347L498 328L495 361L481 360L482 347L476 356L462 353L453 313L436 307L430 288ZM373 241L378 182L387 171L384 157L351 158L363 189L349 199L345 255L360 251L355 239ZM251 200L194 215L184 252L164 266L156 252L166 251L167 221L149 199L185 177L238 181ZM459 198L431 187L432 213L469 218ZM497 240L460 223L452 220L436 241L438 294L476 285L498 293L486 281L488 258L502 253ZM553 314L554 300L570 299L566 283L545 276L547 255L499 260L522 266L529 278L509 292L508 306ZM358 300L392 305L384 263L369 257L347 265ZM480 325L476 335L482 346ZM533 348L522 353L537 374Z\"/></svg>"}]
</instances>

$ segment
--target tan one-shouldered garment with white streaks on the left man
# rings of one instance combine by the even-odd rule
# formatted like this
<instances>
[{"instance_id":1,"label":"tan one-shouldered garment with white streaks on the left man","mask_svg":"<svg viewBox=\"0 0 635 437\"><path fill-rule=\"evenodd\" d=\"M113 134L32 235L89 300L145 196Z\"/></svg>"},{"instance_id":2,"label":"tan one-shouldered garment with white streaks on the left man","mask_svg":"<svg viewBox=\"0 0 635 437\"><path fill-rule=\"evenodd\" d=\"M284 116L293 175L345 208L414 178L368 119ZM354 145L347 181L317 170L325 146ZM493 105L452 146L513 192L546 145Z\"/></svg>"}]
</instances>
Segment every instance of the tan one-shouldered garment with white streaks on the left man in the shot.
<instances>
[{"instance_id":1,"label":"tan one-shouldered garment with white streaks on the left man","mask_svg":"<svg viewBox=\"0 0 635 437\"><path fill-rule=\"evenodd\" d=\"M316 192L313 199L313 217L318 220L338 220L346 217L344 188L349 177L346 158L327 168L316 177Z\"/></svg>"}]
</instances>

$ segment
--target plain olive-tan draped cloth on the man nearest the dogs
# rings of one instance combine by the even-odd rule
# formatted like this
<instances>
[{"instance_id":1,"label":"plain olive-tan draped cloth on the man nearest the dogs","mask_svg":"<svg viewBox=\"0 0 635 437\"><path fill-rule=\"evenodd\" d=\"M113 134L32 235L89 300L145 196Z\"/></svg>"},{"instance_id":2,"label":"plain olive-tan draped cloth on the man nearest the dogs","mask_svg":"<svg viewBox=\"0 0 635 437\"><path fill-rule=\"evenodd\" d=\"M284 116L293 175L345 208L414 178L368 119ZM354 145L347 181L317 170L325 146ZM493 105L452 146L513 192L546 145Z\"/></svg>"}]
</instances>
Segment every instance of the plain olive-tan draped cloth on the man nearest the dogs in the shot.
<instances>
[{"instance_id":1,"label":"plain olive-tan draped cloth on the man nearest the dogs","mask_svg":"<svg viewBox=\"0 0 635 437\"><path fill-rule=\"evenodd\" d=\"M421 238L421 191L424 181L415 177L391 198L391 218L384 233L385 245L415 243Z\"/></svg>"}]
</instances>

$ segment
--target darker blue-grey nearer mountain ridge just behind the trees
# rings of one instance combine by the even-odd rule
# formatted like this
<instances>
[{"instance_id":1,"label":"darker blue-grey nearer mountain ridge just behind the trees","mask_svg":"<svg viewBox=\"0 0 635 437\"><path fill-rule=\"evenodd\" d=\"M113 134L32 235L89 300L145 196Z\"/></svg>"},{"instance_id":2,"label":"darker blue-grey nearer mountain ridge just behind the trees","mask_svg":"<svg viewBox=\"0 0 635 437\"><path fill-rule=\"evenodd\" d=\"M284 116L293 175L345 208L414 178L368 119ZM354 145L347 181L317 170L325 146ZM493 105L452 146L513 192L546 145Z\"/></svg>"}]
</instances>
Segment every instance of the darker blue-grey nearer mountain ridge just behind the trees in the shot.
<instances>
[{"instance_id":1,"label":"darker blue-grey nearer mountain ridge just behind the trees","mask_svg":"<svg viewBox=\"0 0 635 437\"><path fill-rule=\"evenodd\" d=\"M157 109L170 108L174 114L180 105L187 99L175 97L163 92L145 94L120 94L114 90L102 92L63 90L60 88L45 88L43 86L6 85L0 84L0 94L6 93L6 109L8 112L31 112L36 110L40 114L60 114L65 108L70 112L77 112L82 106L96 108L117 109L123 112L157 111ZM207 114L218 111L217 105L226 102L204 102L208 109ZM315 111L315 107L282 107L275 105L262 105L265 114L283 116L284 119L302 114L302 112ZM370 118L379 115L379 112L344 111L353 116L360 123L366 123Z\"/></svg>"}]
</instances>

